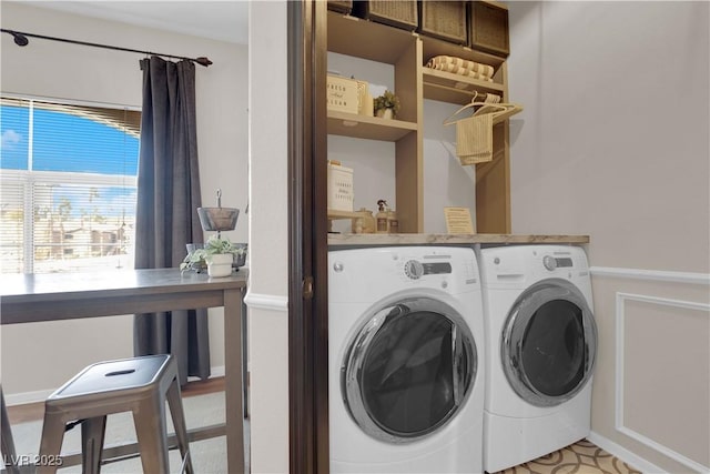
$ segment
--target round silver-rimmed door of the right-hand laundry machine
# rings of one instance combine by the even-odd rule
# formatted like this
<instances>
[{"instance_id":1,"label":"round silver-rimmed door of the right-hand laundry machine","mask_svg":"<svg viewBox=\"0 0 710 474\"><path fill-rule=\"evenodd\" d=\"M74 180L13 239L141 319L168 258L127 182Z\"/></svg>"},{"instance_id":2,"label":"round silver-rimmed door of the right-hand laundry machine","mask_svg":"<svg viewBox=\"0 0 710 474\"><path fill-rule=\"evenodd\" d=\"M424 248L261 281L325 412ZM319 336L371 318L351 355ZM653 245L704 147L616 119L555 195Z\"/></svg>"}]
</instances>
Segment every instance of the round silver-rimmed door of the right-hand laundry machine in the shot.
<instances>
[{"instance_id":1,"label":"round silver-rimmed door of the right-hand laundry machine","mask_svg":"<svg viewBox=\"0 0 710 474\"><path fill-rule=\"evenodd\" d=\"M546 280L517 300L503 329L500 357L515 392L536 406L574 397L591 377L597 326L585 296Z\"/></svg>"}]
</instances>

